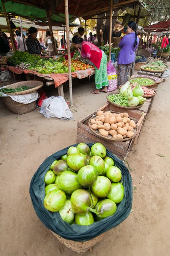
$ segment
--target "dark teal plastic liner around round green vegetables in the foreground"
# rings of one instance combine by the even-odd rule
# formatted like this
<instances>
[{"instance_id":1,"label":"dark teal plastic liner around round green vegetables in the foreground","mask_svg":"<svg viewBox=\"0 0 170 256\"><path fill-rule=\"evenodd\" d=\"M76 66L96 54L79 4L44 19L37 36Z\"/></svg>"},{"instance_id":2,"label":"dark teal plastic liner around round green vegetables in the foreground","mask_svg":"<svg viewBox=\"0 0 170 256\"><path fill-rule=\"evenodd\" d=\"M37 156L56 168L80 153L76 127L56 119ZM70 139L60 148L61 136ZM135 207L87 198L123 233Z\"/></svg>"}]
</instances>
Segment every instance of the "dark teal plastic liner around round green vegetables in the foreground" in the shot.
<instances>
[{"instance_id":1,"label":"dark teal plastic liner around round green vegetables in the foreground","mask_svg":"<svg viewBox=\"0 0 170 256\"><path fill-rule=\"evenodd\" d=\"M72 146L77 145L78 144ZM91 148L93 144L87 143L87 145L89 145L89 148ZM77 224L69 225L62 220L59 212L49 212L47 209L45 209L43 204L45 197L44 177L46 172L49 170L49 166L54 160L67 153L68 148L64 148L46 158L46 160L37 169L37 172L35 172L35 175L32 177L29 192L38 218L47 228L49 228L49 230L58 234L64 239L73 241L88 241L101 235L102 233L105 233L113 227L118 226L128 217L133 201L132 178L123 161L107 150L107 156L111 157L114 160L115 165L121 169L124 186L124 199L117 204L117 210L112 216L104 218L101 221L95 222L89 226L80 226Z\"/></svg>"}]
</instances>

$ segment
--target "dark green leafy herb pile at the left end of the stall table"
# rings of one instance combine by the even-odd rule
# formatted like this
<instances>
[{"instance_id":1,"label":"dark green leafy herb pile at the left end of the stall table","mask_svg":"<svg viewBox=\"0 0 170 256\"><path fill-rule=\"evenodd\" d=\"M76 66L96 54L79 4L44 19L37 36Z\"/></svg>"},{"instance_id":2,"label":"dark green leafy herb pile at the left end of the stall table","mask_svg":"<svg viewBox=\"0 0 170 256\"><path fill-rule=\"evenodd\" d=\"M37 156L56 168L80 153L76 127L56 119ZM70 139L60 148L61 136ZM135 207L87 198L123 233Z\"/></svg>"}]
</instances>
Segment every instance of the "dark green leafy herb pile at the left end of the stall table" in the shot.
<instances>
[{"instance_id":1,"label":"dark green leafy herb pile at the left end of the stall table","mask_svg":"<svg viewBox=\"0 0 170 256\"><path fill-rule=\"evenodd\" d=\"M39 55L29 54L28 52L16 51L14 55L9 58L9 62L13 63L14 66L21 64L22 62L32 62L40 59Z\"/></svg>"}]
</instances>

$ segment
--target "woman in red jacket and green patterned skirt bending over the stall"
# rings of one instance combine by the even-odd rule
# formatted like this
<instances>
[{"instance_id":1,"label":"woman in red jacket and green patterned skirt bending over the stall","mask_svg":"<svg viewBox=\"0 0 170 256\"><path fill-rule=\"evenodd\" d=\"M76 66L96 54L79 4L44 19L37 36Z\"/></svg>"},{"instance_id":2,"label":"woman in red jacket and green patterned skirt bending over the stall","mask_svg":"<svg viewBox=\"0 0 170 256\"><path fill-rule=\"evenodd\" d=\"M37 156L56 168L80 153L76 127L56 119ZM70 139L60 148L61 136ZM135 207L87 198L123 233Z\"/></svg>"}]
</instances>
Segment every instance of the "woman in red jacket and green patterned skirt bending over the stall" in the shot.
<instances>
[{"instance_id":1,"label":"woman in red jacket and green patterned skirt bending over the stall","mask_svg":"<svg viewBox=\"0 0 170 256\"><path fill-rule=\"evenodd\" d=\"M100 92L107 93L107 86L109 84L107 77L107 57L101 49L94 44L83 41L78 35L72 38L74 47L78 49L82 58L86 58L87 63L95 66L95 87L96 90L92 91L93 94ZM102 87L104 87L102 89Z\"/></svg>"}]
</instances>

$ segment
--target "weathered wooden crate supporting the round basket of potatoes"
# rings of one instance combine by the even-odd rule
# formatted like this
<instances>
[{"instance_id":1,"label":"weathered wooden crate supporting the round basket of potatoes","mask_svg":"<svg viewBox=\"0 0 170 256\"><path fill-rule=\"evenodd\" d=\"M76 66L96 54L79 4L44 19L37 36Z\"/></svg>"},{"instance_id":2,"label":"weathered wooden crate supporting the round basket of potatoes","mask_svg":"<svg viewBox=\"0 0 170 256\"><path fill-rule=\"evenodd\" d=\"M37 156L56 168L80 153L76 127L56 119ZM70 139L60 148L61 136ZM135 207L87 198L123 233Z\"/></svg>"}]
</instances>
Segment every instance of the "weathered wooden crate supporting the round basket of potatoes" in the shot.
<instances>
[{"instance_id":1,"label":"weathered wooden crate supporting the round basket of potatoes","mask_svg":"<svg viewBox=\"0 0 170 256\"><path fill-rule=\"evenodd\" d=\"M103 107L101 107L100 110L113 111L112 107L113 105L111 105L110 103L107 103L107 105L104 105ZM117 112L120 112L120 111L117 111ZM89 122L89 119L96 114L97 112L93 112L89 114L89 116L86 116L84 119L81 119L80 121L78 121L77 143L81 143L81 142L102 143L110 152L115 154L121 160L124 160L127 157L127 154L130 152L130 150L133 148L132 145L135 145L133 141L135 140L136 137L139 136L146 113L141 113L140 111L138 111L138 112L134 112L134 115L133 113L130 114L130 117L132 117L137 122L138 134L133 139L127 140L127 141L114 141L114 140L111 141L111 140L101 138L100 136L93 133L88 126L88 122Z\"/></svg>"}]
</instances>

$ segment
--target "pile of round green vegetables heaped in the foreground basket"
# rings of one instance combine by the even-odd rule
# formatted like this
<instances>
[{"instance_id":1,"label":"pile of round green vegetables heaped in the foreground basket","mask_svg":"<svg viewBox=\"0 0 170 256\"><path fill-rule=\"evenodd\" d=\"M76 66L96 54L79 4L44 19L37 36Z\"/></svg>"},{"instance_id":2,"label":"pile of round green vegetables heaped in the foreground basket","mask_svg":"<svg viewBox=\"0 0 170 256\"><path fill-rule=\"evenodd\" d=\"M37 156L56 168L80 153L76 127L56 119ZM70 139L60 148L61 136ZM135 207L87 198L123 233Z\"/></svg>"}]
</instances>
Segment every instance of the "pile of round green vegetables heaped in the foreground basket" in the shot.
<instances>
[{"instance_id":1,"label":"pile of round green vegetables heaped in the foreground basket","mask_svg":"<svg viewBox=\"0 0 170 256\"><path fill-rule=\"evenodd\" d=\"M69 147L44 177L44 207L63 221L88 226L115 214L124 198L121 169L101 143ZM43 184L44 185L44 184Z\"/></svg>"}]
</instances>

